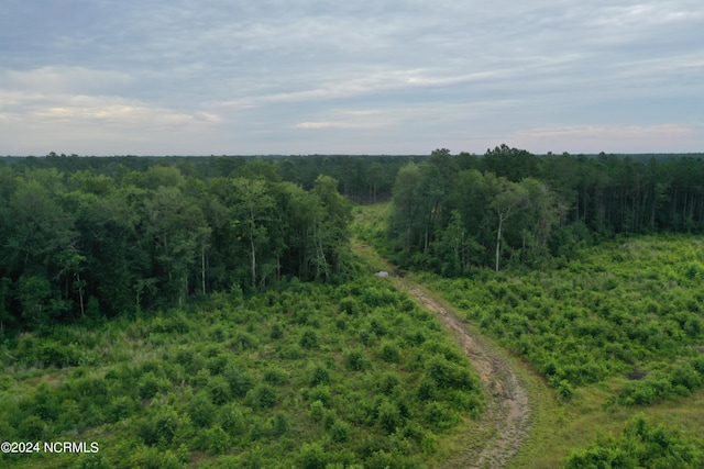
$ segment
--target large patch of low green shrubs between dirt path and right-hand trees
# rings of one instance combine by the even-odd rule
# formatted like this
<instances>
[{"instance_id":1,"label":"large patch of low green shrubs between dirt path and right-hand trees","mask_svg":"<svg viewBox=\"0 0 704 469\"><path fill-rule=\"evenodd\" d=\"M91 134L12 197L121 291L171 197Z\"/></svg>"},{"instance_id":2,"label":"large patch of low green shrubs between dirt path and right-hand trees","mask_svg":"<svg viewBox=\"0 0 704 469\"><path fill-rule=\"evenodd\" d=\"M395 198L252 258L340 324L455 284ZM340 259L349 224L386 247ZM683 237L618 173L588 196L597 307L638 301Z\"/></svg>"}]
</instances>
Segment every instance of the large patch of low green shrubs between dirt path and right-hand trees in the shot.
<instances>
[{"instance_id":1,"label":"large patch of low green shrubs between dirt path and right-hand trees","mask_svg":"<svg viewBox=\"0 0 704 469\"><path fill-rule=\"evenodd\" d=\"M623 377L617 401L647 405L704 384L697 348L704 297L690 278L703 248L684 236L626 238L584 249L554 271L426 278L526 357L562 399L576 387ZM438 364L431 370L441 388L447 373ZM631 375L640 377L627 380ZM421 394L430 391L426 384Z\"/></svg>"}]
</instances>

